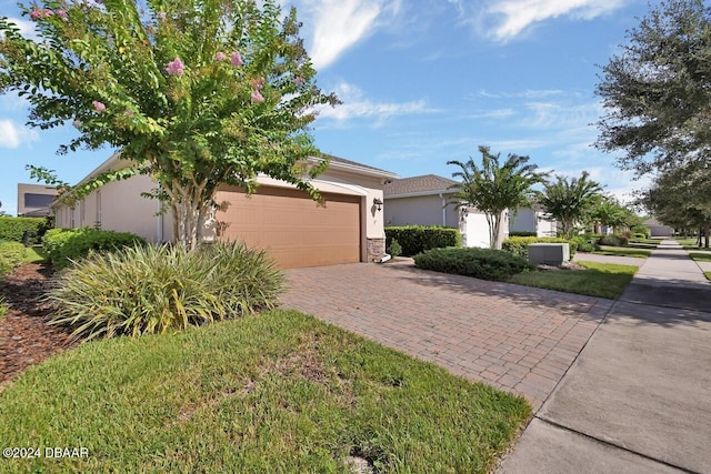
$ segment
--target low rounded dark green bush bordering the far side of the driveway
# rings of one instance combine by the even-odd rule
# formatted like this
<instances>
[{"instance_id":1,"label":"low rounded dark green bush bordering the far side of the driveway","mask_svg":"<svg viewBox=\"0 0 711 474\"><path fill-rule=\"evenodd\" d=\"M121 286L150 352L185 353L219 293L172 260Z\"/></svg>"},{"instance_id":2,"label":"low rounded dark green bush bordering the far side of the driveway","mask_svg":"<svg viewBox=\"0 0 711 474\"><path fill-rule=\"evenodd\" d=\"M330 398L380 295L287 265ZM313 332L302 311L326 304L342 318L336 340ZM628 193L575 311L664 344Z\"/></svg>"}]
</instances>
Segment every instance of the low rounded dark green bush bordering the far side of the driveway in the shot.
<instances>
[{"instance_id":1,"label":"low rounded dark green bush bordering the far side of the driveway","mask_svg":"<svg viewBox=\"0 0 711 474\"><path fill-rule=\"evenodd\" d=\"M419 269L473 276L482 280L508 281L535 265L509 252L492 249L432 249L414 256Z\"/></svg>"}]
</instances>

